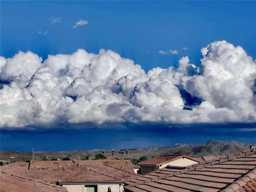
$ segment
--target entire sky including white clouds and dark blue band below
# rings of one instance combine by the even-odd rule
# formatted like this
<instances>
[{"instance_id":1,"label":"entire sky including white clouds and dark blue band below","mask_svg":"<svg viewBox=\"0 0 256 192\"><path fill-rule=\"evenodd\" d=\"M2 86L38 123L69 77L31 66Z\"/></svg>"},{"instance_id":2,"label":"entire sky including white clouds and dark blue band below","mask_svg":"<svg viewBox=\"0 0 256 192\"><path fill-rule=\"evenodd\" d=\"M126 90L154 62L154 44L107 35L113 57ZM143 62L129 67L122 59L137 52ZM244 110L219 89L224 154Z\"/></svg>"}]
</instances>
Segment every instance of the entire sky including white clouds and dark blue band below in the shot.
<instances>
[{"instance_id":1,"label":"entire sky including white clouds and dark blue band below","mask_svg":"<svg viewBox=\"0 0 256 192\"><path fill-rule=\"evenodd\" d=\"M255 143L255 12L254 1L1 1L1 149Z\"/></svg>"}]
</instances>

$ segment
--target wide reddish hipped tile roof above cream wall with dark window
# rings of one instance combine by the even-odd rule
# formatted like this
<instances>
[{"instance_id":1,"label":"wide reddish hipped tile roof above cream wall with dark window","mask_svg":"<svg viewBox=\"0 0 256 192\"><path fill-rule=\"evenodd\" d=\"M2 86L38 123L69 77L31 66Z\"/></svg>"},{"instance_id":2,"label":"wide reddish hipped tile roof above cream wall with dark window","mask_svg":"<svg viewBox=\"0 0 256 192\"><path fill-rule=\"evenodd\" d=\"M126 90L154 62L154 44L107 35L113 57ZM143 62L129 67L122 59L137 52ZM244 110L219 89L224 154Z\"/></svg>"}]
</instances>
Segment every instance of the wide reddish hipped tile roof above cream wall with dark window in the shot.
<instances>
[{"instance_id":1,"label":"wide reddish hipped tile roof above cream wall with dark window","mask_svg":"<svg viewBox=\"0 0 256 192\"><path fill-rule=\"evenodd\" d=\"M68 164L65 164L65 162ZM79 166L77 165L78 162L69 163L69 161L32 162L33 166L30 165L28 170L18 174L22 177L52 183L70 178L71 176L74 177L65 181L92 182L111 180L123 182L123 180L131 180L140 176L134 173L133 166L129 160L79 161Z\"/></svg>"}]
</instances>

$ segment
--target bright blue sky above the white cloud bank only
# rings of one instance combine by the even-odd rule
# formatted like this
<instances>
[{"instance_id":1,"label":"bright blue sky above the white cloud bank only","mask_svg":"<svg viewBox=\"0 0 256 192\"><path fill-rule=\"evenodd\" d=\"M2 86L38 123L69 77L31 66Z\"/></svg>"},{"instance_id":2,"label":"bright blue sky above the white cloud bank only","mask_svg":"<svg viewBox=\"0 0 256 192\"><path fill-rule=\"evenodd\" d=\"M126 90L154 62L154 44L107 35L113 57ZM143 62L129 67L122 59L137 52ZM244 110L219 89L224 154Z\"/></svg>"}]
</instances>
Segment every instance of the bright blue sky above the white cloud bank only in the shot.
<instances>
[{"instance_id":1,"label":"bright blue sky above the white cloud bank only","mask_svg":"<svg viewBox=\"0 0 256 192\"><path fill-rule=\"evenodd\" d=\"M45 59L47 54L79 48L98 53L103 48L147 71L176 66L185 55L198 65L202 47L226 39L255 58L255 12L254 1L1 1L1 55L30 50ZM50 18L61 22L51 23ZM80 19L89 24L72 28ZM161 50L178 54L159 54Z\"/></svg>"}]
</instances>

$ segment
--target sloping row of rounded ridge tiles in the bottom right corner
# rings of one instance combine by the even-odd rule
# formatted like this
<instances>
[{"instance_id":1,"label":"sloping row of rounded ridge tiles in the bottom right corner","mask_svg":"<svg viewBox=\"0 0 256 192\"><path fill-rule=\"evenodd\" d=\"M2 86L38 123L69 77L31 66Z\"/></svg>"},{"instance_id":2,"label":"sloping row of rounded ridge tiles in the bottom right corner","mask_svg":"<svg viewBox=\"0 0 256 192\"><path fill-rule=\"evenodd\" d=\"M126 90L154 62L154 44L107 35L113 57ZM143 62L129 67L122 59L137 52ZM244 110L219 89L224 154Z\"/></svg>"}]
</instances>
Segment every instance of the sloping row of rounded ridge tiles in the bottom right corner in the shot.
<instances>
[{"instance_id":1,"label":"sloping row of rounded ridge tiles in the bottom right corner","mask_svg":"<svg viewBox=\"0 0 256 192\"><path fill-rule=\"evenodd\" d=\"M221 190L221 192L234 192L238 188L243 187L246 183L252 179L256 178L256 169L250 171L249 173L245 174L242 178L237 179L236 181L230 183L228 187Z\"/></svg>"}]
</instances>

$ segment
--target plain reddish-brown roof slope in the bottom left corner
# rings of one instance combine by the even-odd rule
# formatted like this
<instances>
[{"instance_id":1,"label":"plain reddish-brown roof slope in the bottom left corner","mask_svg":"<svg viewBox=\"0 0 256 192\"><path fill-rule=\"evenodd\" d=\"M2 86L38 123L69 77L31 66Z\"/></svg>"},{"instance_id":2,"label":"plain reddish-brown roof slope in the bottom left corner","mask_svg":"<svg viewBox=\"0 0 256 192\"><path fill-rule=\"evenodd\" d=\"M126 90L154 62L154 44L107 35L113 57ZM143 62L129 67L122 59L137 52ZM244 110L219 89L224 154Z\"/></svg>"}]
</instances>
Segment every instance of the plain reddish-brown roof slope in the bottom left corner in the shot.
<instances>
[{"instance_id":1,"label":"plain reddish-brown roof slope in the bottom left corner","mask_svg":"<svg viewBox=\"0 0 256 192\"><path fill-rule=\"evenodd\" d=\"M19 192L68 192L66 187L52 185L41 181L31 180L18 175L8 174L1 171L1 191Z\"/></svg>"}]
</instances>

